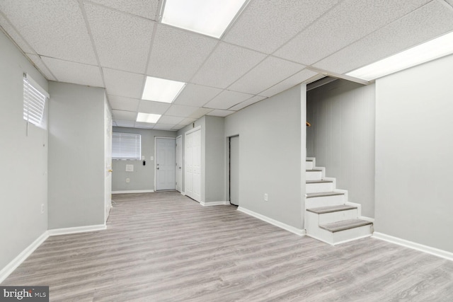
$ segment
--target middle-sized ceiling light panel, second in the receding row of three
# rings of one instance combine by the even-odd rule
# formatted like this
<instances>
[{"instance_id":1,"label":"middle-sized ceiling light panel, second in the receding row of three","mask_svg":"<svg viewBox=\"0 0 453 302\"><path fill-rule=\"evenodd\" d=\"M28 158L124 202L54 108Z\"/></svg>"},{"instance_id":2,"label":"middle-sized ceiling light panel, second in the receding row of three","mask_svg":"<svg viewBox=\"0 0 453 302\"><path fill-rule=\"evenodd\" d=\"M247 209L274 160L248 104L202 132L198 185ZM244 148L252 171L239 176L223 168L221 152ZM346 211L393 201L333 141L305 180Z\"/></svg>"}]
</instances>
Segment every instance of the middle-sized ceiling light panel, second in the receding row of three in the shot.
<instances>
[{"instance_id":1,"label":"middle-sized ceiling light panel, second in the receding row of three","mask_svg":"<svg viewBox=\"0 0 453 302\"><path fill-rule=\"evenodd\" d=\"M147 76L144 83L143 100L155 100L156 102L173 103L173 100L183 90L185 83Z\"/></svg>"}]
</instances>

